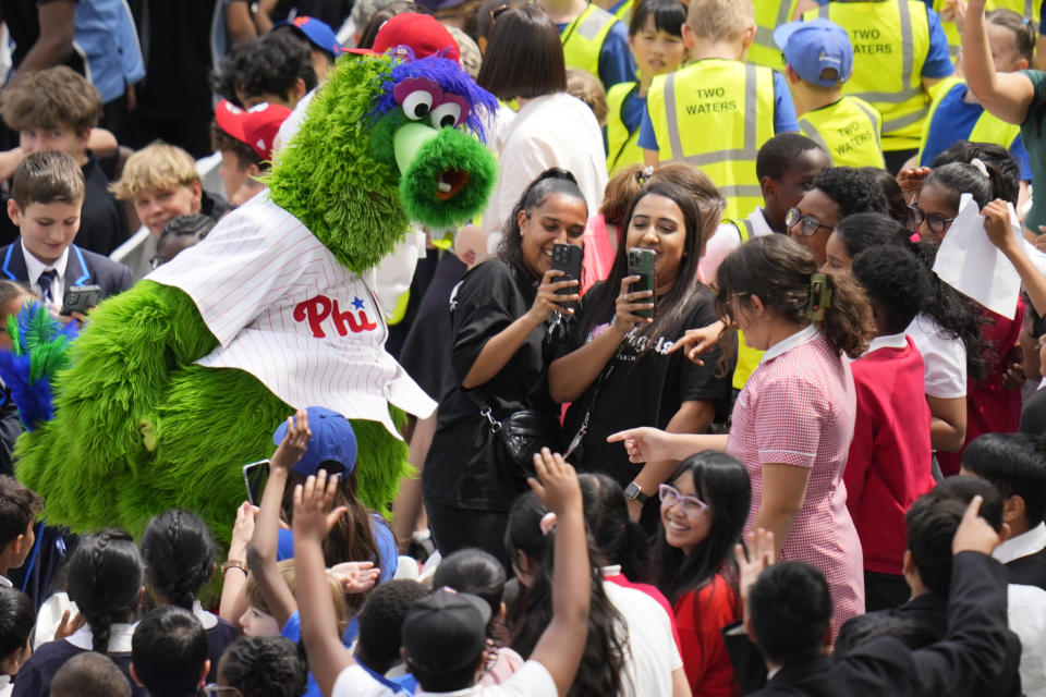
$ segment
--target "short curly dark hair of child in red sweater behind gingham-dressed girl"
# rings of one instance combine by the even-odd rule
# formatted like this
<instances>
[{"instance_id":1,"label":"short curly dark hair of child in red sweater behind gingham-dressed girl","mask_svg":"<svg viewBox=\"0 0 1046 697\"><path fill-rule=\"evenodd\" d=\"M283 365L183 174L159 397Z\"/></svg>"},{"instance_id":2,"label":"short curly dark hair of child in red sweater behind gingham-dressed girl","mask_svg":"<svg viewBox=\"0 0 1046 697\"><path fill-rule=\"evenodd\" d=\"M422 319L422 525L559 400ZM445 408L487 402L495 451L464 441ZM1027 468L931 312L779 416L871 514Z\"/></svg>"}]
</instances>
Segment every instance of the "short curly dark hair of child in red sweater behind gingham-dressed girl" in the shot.
<instances>
[{"instance_id":1,"label":"short curly dark hair of child in red sweater behind gingham-dressed girl","mask_svg":"<svg viewBox=\"0 0 1046 697\"><path fill-rule=\"evenodd\" d=\"M883 311L881 334L899 334L912 323L933 292L929 271L900 246L868 247L853 258L852 272Z\"/></svg>"}]
</instances>

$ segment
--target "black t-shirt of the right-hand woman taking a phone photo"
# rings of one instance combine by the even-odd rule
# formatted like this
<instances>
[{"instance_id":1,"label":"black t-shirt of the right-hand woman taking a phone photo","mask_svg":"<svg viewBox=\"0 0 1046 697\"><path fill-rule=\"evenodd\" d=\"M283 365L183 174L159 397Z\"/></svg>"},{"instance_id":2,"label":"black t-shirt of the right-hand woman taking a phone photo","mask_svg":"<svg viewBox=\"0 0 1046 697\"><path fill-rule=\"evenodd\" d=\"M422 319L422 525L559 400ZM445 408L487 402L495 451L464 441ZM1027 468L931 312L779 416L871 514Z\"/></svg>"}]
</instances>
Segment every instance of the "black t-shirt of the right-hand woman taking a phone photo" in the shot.
<instances>
[{"instance_id":1,"label":"black t-shirt of the right-hand woman taking a phone photo","mask_svg":"<svg viewBox=\"0 0 1046 697\"><path fill-rule=\"evenodd\" d=\"M595 293L601 283L597 283L585 294L577 308L576 321L565 332L564 339L557 342L555 354L564 356L581 347L592 335L608 329L613 317L607 317L606 323L597 325L589 335L581 335L581 327L585 323L585 313ZM588 418L588 428L581 448L575 451L572 460L579 468L588 472L600 472L616 479L622 487L635 479L638 473L636 465L629 462L628 454L621 443L608 443L607 436L627 428L636 426L655 426L665 428L683 402L693 400L708 400L715 403L716 418L726 419L730 407L730 376L732 366L725 372L718 367L721 352L716 348L704 357L703 366L698 366L682 352L668 353L673 343L688 329L707 327L716 321L713 310L713 294L706 286L689 301L689 308L683 314L681 326L668 337L647 339L637 335L633 329L617 354L604 368L603 384L599 394L593 404L593 395L599 383L596 379L576 402L571 404L563 424L564 440L569 443L581 427L585 413L592 406ZM653 341L653 347L642 353L647 342ZM723 372L722 377L717 377ZM649 492L648 492L649 493Z\"/></svg>"}]
</instances>

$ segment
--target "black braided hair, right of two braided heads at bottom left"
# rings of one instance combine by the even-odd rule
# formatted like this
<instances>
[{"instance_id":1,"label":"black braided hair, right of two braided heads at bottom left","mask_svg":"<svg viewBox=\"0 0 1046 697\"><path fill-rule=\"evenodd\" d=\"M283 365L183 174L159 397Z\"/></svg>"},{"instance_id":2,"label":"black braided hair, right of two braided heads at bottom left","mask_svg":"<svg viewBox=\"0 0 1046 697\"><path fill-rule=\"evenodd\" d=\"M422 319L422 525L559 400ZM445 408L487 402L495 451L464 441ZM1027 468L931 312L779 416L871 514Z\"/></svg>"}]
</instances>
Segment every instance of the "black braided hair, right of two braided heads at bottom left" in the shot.
<instances>
[{"instance_id":1,"label":"black braided hair, right of two braided heads at bottom left","mask_svg":"<svg viewBox=\"0 0 1046 697\"><path fill-rule=\"evenodd\" d=\"M155 516L142 535L149 585L168 602L193 609L196 594L215 570L215 541L198 517L171 509Z\"/></svg>"}]
</instances>

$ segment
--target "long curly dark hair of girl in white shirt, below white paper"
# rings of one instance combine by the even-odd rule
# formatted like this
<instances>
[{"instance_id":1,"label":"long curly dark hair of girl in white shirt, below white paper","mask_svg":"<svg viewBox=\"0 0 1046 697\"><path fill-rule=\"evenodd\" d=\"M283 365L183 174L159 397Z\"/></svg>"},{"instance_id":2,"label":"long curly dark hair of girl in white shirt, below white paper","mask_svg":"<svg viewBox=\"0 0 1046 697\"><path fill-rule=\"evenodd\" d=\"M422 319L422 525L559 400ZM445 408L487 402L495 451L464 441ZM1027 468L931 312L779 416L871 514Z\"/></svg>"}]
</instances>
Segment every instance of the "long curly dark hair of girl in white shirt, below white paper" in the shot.
<instances>
[{"instance_id":1,"label":"long curly dark hair of girl in white shirt, below white paper","mask_svg":"<svg viewBox=\"0 0 1046 697\"><path fill-rule=\"evenodd\" d=\"M915 255L927 269L934 268L937 259L937 245L924 241L914 245ZM936 273L931 274L933 292L923 305L923 313L931 317L944 339L959 339L966 347L966 377L980 380L988 370L988 342L984 340L981 328L987 323L981 306L956 289L941 281Z\"/></svg>"}]
</instances>

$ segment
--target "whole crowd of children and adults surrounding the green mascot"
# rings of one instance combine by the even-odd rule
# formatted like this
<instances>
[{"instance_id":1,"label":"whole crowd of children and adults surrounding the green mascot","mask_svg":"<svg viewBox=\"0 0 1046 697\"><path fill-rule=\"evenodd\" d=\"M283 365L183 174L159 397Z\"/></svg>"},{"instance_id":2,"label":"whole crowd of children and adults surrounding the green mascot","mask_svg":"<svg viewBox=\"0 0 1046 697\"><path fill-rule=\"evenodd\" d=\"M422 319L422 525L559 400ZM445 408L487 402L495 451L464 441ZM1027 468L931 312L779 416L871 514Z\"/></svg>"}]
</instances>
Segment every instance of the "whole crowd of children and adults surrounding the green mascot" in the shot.
<instances>
[{"instance_id":1,"label":"whole crowd of children and adults surrounding the green mascot","mask_svg":"<svg viewBox=\"0 0 1046 697\"><path fill-rule=\"evenodd\" d=\"M1046 697L1046 5L182 4L0 0L0 317L90 322L339 64L441 56L494 191L367 281L438 411L394 519L299 405L231 535L134 539L45 525L4 389L0 696Z\"/></svg>"}]
</instances>

